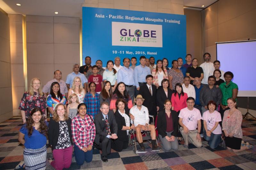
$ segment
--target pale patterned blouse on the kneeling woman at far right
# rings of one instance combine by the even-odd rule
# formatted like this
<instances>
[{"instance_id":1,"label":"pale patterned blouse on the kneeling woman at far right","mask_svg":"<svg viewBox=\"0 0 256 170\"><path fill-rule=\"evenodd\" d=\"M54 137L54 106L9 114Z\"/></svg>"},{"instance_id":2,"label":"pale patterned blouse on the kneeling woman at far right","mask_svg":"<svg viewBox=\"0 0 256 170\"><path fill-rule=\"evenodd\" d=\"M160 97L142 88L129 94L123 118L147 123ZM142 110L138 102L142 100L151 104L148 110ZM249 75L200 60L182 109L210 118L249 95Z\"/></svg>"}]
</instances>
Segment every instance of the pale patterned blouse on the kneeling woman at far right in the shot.
<instances>
[{"instance_id":1,"label":"pale patterned blouse on the kneeling woman at far right","mask_svg":"<svg viewBox=\"0 0 256 170\"><path fill-rule=\"evenodd\" d=\"M227 133L234 133L234 137L243 138L243 132L241 128L243 121L242 113L236 109L233 115L228 118L229 111L230 109L224 112L222 130L226 130Z\"/></svg>"}]
</instances>

